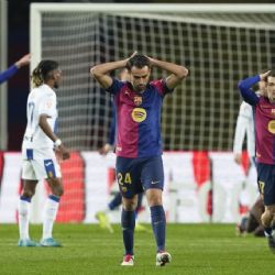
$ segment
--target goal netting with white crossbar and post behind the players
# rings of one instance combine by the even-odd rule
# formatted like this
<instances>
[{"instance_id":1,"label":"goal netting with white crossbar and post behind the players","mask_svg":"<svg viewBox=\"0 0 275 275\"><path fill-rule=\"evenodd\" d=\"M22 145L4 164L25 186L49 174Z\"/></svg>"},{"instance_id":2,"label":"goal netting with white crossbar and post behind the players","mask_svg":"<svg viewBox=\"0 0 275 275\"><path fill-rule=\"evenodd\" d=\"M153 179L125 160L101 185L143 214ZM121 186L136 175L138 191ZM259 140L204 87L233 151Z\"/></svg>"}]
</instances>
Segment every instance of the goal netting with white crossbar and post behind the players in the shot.
<instances>
[{"instance_id":1,"label":"goal netting with white crossbar and post behind the players","mask_svg":"<svg viewBox=\"0 0 275 275\"><path fill-rule=\"evenodd\" d=\"M59 62L59 133L75 150L108 140L110 97L90 77L99 63L134 51L185 65L189 77L164 101L165 150L231 151L238 81L272 68L274 7L191 4L32 4L31 45ZM165 77L153 70L152 78Z\"/></svg>"}]
</instances>

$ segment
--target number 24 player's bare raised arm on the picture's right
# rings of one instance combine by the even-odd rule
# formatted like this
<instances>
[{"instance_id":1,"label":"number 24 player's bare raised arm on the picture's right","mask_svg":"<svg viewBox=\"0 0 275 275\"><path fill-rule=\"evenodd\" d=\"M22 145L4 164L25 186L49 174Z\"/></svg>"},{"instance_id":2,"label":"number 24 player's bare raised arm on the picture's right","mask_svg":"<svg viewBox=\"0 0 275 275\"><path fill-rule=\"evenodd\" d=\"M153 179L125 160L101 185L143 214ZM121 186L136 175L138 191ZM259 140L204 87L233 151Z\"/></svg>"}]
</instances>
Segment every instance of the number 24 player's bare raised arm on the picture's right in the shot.
<instances>
[{"instance_id":1,"label":"number 24 player's bare raised arm on the picture's right","mask_svg":"<svg viewBox=\"0 0 275 275\"><path fill-rule=\"evenodd\" d=\"M163 62L155 58L148 57L150 63L152 66L158 67L161 69L165 69L172 75L169 75L166 78L166 86L169 89L174 89L177 85L179 85L188 75L188 69L184 66L169 63L169 62Z\"/></svg>"}]
</instances>

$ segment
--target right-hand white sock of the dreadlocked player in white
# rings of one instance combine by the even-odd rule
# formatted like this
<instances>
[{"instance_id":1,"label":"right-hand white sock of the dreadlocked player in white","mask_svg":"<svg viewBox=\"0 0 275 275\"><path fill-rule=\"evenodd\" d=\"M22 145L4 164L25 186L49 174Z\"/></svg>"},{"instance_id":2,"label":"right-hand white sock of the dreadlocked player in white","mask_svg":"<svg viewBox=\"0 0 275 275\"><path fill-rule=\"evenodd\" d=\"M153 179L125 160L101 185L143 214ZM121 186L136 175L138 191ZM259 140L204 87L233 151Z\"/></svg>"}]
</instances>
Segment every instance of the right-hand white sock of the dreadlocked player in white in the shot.
<instances>
[{"instance_id":1,"label":"right-hand white sock of the dreadlocked player in white","mask_svg":"<svg viewBox=\"0 0 275 275\"><path fill-rule=\"evenodd\" d=\"M59 206L59 197L50 195L46 200L44 221L43 221L43 238L52 238L53 226Z\"/></svg>"}]
</instances>

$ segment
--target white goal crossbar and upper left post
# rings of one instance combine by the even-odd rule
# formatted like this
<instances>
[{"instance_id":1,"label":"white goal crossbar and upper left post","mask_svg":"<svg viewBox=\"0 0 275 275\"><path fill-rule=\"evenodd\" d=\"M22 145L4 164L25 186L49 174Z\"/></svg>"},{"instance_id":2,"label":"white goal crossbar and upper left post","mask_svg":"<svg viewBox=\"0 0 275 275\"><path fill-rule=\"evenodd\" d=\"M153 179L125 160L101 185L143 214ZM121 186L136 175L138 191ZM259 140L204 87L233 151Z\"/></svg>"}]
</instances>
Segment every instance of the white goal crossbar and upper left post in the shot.
<instances>
[{"instance_id":1,"label":"white goal crossbar and upper left post","mask_svg":"<svg viewBox=\"0 0 275 275\"><path fill-rule=\"evenodd\" d=\"M129 12L160 13L275 13L275 4L185 4L185 3L31 3L30 18L30 45L31 45L31 70L41 61L41 13L42 12L119 12L128 14Z\"/></svg>"}]
</instances>

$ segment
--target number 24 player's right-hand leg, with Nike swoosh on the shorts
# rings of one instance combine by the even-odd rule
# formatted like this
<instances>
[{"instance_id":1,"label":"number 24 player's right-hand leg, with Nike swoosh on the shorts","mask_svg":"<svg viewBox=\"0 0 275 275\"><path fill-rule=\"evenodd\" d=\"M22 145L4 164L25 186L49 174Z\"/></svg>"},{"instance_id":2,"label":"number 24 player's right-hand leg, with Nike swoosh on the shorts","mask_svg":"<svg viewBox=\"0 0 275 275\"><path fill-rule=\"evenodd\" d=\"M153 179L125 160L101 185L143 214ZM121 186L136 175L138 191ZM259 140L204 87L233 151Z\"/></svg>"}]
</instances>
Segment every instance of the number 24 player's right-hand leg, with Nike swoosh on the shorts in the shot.
<instances>
[{"instance_id":1,"label":"number 24 player's right-hand leg, with Nike swoosh on the shorts","mask_svg":"<svg viewBox=\"0 0 275 275\"><path fill-rule=\"evenodd\" d=\"M164 170L161 156L147 158L142 169L142 183L150 206L152 228L157 245L156 265L163 266L170 262L170 254L165 249Z\"/></svg>"}]
</instances>

